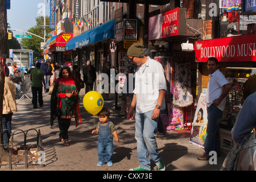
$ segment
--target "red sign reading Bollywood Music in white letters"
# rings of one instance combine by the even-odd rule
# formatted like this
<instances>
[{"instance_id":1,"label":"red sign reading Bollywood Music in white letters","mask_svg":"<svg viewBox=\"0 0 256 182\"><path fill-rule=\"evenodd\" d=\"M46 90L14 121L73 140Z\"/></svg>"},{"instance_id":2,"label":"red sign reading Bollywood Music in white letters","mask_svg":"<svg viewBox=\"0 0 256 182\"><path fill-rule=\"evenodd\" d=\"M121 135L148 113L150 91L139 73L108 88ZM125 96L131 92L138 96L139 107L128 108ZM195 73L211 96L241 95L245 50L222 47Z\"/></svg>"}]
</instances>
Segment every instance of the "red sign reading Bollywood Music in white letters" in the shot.
<instances>
[{"instance_id":1,"label":"red sign reading Bollywood Music in white letters","mask_svg":"<svg viewBox=\"0 0 256 182\"><path fill-rule=\"evenodd\" d=\"M232 36L195 42L195 57L198 62L207 62L209 57L218 61L256 61L256 34Z\"/></svg>"}]
</instances>

